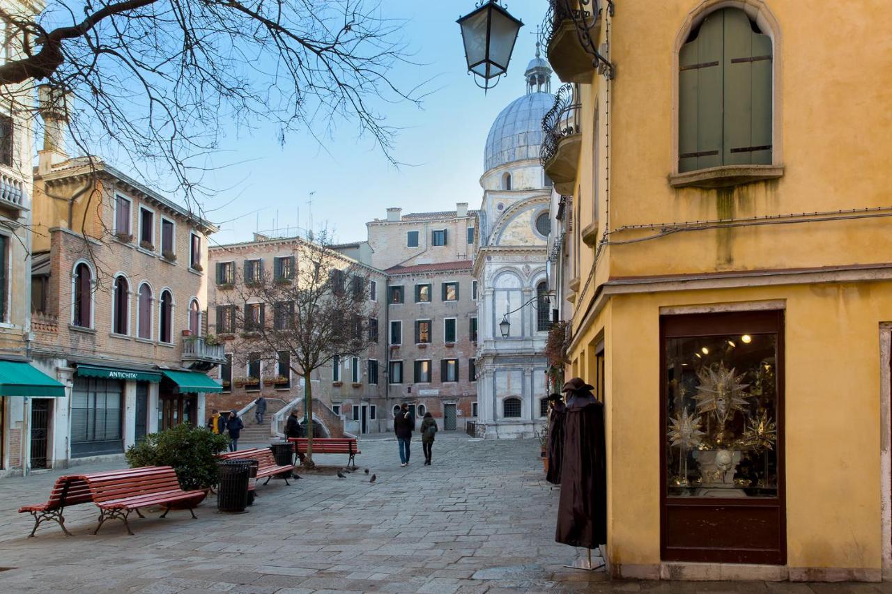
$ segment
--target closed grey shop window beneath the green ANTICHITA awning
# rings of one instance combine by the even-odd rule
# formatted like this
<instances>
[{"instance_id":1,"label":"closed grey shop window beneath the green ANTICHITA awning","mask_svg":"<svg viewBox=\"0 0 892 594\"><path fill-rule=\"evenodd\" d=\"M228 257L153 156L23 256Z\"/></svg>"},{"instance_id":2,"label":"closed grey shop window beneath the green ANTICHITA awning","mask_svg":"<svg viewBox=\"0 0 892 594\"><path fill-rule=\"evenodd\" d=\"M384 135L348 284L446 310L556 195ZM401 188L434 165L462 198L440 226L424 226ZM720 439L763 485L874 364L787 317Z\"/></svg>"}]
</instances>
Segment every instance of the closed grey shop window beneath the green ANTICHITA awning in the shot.
<instances>
[{"instance_id":1,"label":"closed grey shop window beneath the green ANTICHITA awning","mask_svg":"<svg viewBox=\"0 0 892 594\"><path fill-rule=\"evenodd\" d=\"M75 376L71 390L71 457L124 451L123 383Z\"/></svg>"}]
</instances>

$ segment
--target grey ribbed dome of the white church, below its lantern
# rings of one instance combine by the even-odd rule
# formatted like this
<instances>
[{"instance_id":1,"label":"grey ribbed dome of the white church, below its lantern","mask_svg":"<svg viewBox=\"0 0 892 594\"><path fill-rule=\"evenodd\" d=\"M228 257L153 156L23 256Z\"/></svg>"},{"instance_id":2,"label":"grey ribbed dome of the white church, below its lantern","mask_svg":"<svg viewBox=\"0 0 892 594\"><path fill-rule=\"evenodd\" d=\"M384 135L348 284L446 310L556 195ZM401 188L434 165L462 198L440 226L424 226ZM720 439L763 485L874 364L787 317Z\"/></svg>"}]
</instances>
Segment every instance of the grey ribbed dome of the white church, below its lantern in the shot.
<instances>
[{"instance_id":1,"label":"grey ribbed dome of the white church, below its lantern","mask_svg":"<svg viewBox=\"0 0 892 594\"><path fill-rule=\"evenodd\" d=\"M513 161L538 159L542 144L542 118L554 105L550 93L528 93L503 109L486 137L483 169L489 171Z\"/></svg>"}]
</instances>

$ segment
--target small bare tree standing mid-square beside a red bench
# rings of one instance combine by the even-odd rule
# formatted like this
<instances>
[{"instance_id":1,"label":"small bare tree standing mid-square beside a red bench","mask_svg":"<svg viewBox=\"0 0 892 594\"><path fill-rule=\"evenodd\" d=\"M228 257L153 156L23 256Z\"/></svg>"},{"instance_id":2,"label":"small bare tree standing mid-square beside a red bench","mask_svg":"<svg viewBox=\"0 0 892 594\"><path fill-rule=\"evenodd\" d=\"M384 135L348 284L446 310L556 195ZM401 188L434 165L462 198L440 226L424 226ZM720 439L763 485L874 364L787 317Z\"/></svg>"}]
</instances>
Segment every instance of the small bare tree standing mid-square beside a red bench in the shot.
<instances>
[{"instance_id":1,"label":"small bare tree standing mid-square beside a red bench","mask_svg":"<svg viewBox=\"0 0 892 594\"><path fill-rule=\"evenodd\" d=\"M313 391L310 377L335 357L357 355L376 340L368 318L376 310L368 299L368 276L361 266L333 250L323 237L299 240L273 270L252 268L233 285L244 308L236 307L242 328L238 357L249 352L277 359L287 352L289 367L303 378L308 448L304 466L313 467ZM374 330L374 333L370 330Z\"/></svg>"}]
</instances>

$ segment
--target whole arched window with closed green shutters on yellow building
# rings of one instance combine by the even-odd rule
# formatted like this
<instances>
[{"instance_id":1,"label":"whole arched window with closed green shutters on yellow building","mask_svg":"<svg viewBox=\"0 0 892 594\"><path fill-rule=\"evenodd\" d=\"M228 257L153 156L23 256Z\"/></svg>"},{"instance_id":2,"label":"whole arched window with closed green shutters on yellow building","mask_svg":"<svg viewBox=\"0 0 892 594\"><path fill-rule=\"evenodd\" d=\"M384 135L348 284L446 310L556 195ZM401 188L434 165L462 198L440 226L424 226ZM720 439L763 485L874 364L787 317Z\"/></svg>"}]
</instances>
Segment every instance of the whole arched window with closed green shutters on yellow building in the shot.
<instances>
[{"instance_id":1,"label":"whole arched window with closed green shutters on yellow building","mask_svg":"<svg viewBox=\"0 0 892 594\"><path fill-rule=\"evenodd\" d=\"M691 30L678 63L679 172L771 164L771 37L723 8Z\"/></svg>"}]
</instances>

